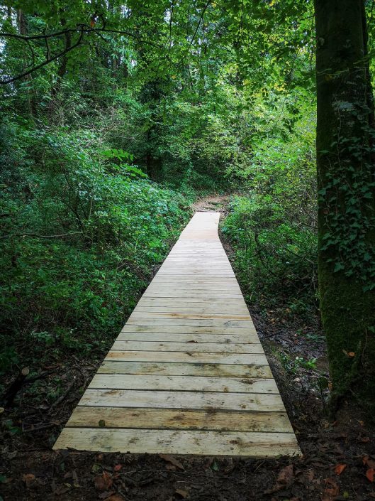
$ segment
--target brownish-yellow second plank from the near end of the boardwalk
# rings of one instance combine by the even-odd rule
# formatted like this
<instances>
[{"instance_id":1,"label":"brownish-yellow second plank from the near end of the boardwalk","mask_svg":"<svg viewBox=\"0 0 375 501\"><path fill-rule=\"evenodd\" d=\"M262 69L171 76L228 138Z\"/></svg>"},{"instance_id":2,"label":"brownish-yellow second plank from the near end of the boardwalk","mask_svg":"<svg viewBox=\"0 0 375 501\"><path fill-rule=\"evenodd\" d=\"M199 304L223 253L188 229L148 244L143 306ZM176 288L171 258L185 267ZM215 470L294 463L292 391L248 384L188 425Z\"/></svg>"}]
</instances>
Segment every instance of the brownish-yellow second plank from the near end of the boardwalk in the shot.
<instances>
[{"instance_id":1,"label":"brownish-yellow second plank from the near end of the boardwalk","mask_svg":"<svg viewBox=\"0 0 375 501\"><path fill-rule=\"evenodd\" d=\"M69 427L262 431L293 433L286 412L191 411L188 409L127 409L126 407L78 406Z\"/></svg>"}]
</instances>

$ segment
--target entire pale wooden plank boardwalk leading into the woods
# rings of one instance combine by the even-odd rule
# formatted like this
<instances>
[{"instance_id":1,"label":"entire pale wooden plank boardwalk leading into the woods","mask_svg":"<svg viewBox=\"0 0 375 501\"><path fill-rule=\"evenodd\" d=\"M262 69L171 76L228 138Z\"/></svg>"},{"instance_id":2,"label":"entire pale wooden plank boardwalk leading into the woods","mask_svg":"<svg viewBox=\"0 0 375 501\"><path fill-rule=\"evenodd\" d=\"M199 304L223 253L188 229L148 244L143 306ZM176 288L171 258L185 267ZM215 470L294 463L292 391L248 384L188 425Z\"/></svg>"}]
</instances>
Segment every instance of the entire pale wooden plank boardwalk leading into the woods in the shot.
<instances>
[{"instance_id":1,"label":"entire pale wooden plank boardwalk leading into the woods","mask_svg":"<svg viewBox=\"0 0 375 501\"><path fill-rule=\"evenodd\" d=\"M300 454L218 238L196 212L125 324L55 449Z\"/></svg>"}]
</instances>

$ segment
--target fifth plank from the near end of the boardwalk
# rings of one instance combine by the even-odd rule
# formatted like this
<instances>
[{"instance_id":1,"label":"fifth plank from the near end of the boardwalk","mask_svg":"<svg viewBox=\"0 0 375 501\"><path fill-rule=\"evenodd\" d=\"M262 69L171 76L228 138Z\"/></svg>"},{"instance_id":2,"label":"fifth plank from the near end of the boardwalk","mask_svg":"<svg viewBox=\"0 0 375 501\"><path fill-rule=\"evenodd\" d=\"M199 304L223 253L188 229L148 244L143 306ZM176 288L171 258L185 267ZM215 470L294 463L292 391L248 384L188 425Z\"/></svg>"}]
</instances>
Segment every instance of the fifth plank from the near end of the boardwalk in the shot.
<instances>
[{"instance_id":1,"label":"fifth plank from the near end of the boardwalk","mask_svg":"<svg viewBox=\"0 0 375 501\"><path fill-rule=\"evenodd\" d=\"M176 363L176 362L123 362L104 360L98 374L159 374L207 377L264 377L272 378L268 365Z\"/></svg>"}]
</instances>

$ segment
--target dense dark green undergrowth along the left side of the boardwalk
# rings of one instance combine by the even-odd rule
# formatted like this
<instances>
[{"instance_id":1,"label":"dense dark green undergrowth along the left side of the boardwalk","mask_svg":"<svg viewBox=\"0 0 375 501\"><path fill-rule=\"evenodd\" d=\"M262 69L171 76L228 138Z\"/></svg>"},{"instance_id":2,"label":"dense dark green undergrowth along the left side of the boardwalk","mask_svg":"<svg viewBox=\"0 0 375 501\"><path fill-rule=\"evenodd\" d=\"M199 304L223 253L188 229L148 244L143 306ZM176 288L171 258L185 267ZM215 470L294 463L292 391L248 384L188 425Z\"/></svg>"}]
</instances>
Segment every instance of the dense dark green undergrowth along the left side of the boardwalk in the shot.
<instances>
[{"instance_id":1,"label":"dense dark green undergrowth along the left side of the boardwalk","mask_svg":"<svg viewBox=\"0 0 375 501\"><path fill-rule=\"evenodd\" d=\"M15 120L0 140L2 370L30 353L92 356L164 259L186 202L106 148L99 131Z\"/></svg>"}]
</instances>

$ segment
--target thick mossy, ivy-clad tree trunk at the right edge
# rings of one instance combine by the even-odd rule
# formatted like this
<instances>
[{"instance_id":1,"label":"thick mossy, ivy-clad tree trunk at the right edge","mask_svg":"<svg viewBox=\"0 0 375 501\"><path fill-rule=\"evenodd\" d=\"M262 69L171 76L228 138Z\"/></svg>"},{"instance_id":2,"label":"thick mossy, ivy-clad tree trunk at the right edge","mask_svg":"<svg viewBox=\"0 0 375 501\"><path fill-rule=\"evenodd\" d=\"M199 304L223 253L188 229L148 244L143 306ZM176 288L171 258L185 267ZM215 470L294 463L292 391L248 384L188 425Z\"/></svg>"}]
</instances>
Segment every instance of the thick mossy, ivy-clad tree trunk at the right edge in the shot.
<instances>
[{"instance_id":1,"label":"thick mossy, ivy-clad tree trunk at the right edge","mask_svg":"<svg viewBox=\"0 0 375 501\"><path fill-rule=\"evenodd\" d=\"M332 403L375 407L374 105L364 0L315 0L320 308Z\"/></svg>"}]
</instances>

